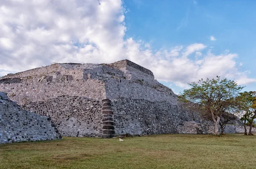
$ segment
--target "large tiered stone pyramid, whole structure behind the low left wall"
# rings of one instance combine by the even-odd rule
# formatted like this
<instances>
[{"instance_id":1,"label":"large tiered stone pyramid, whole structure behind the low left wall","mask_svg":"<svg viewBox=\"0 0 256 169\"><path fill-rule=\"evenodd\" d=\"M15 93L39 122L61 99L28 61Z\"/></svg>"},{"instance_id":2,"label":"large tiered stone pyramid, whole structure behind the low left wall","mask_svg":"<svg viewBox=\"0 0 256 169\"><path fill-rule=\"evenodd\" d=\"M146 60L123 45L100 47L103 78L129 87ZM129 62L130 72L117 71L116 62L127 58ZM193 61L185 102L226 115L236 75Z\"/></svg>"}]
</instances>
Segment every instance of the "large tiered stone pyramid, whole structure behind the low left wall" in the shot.
<instances>
[{"instance_id":1,"label":"large tiered stone pyramid, whole structure behind the low left wall","mask_svg":"<svg viewBox=\"0 0 256 169\"><path fill-rule=\"evenodd\" d=\"M177 95L154 80L150 70L129 60L57 63L8 74L0 78L0 91L23 109L51 117L63 136L109 138L213 129L201 125L198 114L183 110ZM193 126L198 129L190 130Z\"/></svg>"}]
</instances>

